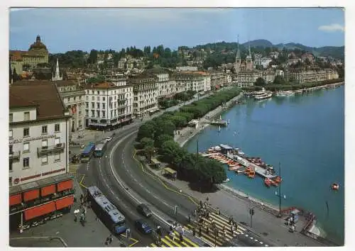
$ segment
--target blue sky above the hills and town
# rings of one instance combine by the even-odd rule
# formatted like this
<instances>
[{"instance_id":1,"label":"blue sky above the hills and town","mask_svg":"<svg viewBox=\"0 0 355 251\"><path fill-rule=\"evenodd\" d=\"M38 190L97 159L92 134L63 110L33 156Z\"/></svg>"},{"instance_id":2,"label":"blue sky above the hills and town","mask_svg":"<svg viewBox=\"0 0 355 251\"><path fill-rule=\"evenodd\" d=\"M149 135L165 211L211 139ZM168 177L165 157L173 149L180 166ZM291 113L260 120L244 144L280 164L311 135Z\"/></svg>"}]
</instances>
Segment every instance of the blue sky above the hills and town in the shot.
<instances>
[{"instance_id":1,"label":"blue sky above the hills and town","mask_svg":"<svg viewBox=\"0 0 355 251\"><path fill-rule=\"evenodd\" d=\"M130 46L195 46L219 41L311 47L344 45L344 11L333 8L63 9L10 11L10 49L28 50L36 35L51 53Z\"/></svg>"}]
</instances>

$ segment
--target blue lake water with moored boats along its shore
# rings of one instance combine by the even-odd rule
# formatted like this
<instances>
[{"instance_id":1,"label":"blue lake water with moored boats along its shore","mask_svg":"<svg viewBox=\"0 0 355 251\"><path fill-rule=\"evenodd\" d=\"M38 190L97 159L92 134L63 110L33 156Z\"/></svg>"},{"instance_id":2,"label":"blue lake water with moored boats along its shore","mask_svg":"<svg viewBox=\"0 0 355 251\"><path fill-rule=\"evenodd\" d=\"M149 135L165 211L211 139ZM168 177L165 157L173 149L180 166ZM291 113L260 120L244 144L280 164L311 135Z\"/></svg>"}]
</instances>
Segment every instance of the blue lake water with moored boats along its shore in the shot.
<instances>
[{"instance_id":1,"label":"blue lake water with moored boats along its shore","mask_svg":"<svg viewBox=\"0 0 355 251\"><path fill-rule=\"evenodd\" d=\"M299 206L317 216L327 238L344 243L344 86L310 94L247 99L222 118L230 120L219 132L209 126L185 147L200 152L221 143L239 147L247 156L261 157L283 177L282 207ZM263 179L249 179L227 171L227 184L278 206L278 188L266 188ZM333 182L340 184L332 191ZM328 207L327 207L328 204Z\"/></svg>"}]
</instances>

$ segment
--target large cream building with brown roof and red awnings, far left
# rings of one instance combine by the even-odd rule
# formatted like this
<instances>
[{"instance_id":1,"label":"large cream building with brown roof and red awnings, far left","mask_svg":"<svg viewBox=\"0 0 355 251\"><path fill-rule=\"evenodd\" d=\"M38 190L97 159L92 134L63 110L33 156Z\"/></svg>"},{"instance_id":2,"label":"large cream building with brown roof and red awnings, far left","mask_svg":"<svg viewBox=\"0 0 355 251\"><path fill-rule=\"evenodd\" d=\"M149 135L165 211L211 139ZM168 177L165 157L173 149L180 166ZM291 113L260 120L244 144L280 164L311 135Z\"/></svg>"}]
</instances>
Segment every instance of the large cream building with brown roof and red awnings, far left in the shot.
<instances>
[{"instance_id":1,"label":"large cream building with brown roof and red awnings, far left","mask_svg":"<svg viewBox=\"0 0 355 251\"><path fill-rule=\"evenodd\" d=\"M70 211L70 116L53 82L16 82L9 108L9 221L22 231L30 221Z\"/></svg>"}]
</instances>

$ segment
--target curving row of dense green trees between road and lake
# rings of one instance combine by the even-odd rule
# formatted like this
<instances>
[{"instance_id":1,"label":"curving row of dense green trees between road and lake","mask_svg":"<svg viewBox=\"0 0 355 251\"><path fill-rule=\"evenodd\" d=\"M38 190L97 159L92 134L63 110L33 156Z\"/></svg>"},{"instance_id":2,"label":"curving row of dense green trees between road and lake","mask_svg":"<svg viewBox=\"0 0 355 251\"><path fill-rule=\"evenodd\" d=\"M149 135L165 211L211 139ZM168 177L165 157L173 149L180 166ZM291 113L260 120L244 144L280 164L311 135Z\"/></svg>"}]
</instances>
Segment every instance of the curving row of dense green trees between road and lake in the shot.
<instances>
[{"instance_id":1,"label":"curving row of dense green trees between road and lake","mask_svg":"<svg viewBox=\"0 0 355 251\"><path fill-rule=\"evenodd\" d=\"M226 103L241 92L239 88L219 91L192 104L182 106L178 111L167 111L147 121L138 130L136 148L148 160L158 153L158 159L169 163L178 172L178 178L191 184L212 189L226 179L223 164L196 153L187 152L174 141L174 131L187 126L192 119L198 119L209 111Z\"/></svg>"}]
</instances>

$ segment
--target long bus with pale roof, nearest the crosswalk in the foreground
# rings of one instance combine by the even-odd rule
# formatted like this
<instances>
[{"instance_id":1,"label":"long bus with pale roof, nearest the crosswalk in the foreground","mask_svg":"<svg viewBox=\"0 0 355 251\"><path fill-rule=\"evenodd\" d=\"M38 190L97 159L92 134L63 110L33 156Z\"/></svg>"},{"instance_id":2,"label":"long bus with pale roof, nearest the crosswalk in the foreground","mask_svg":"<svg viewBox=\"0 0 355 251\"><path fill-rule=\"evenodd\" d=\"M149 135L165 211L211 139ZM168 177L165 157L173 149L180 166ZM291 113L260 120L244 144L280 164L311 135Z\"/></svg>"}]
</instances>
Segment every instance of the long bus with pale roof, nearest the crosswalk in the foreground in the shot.
<instances>
[{"instance_id":1,"label":"long bus with pale roof, nearest the crosswalk in the foreground","mask_svg":"<svg viewBox=\"0 0 355 251\"><path fill-rule=\"evenodd\" d=\"M97 217L102 220L109 230L116 234L126 232L126 218L112 204L97 186L87 188L87 199L91 201L92 209L97 213Z\"/></svg>"}]
</instances>

